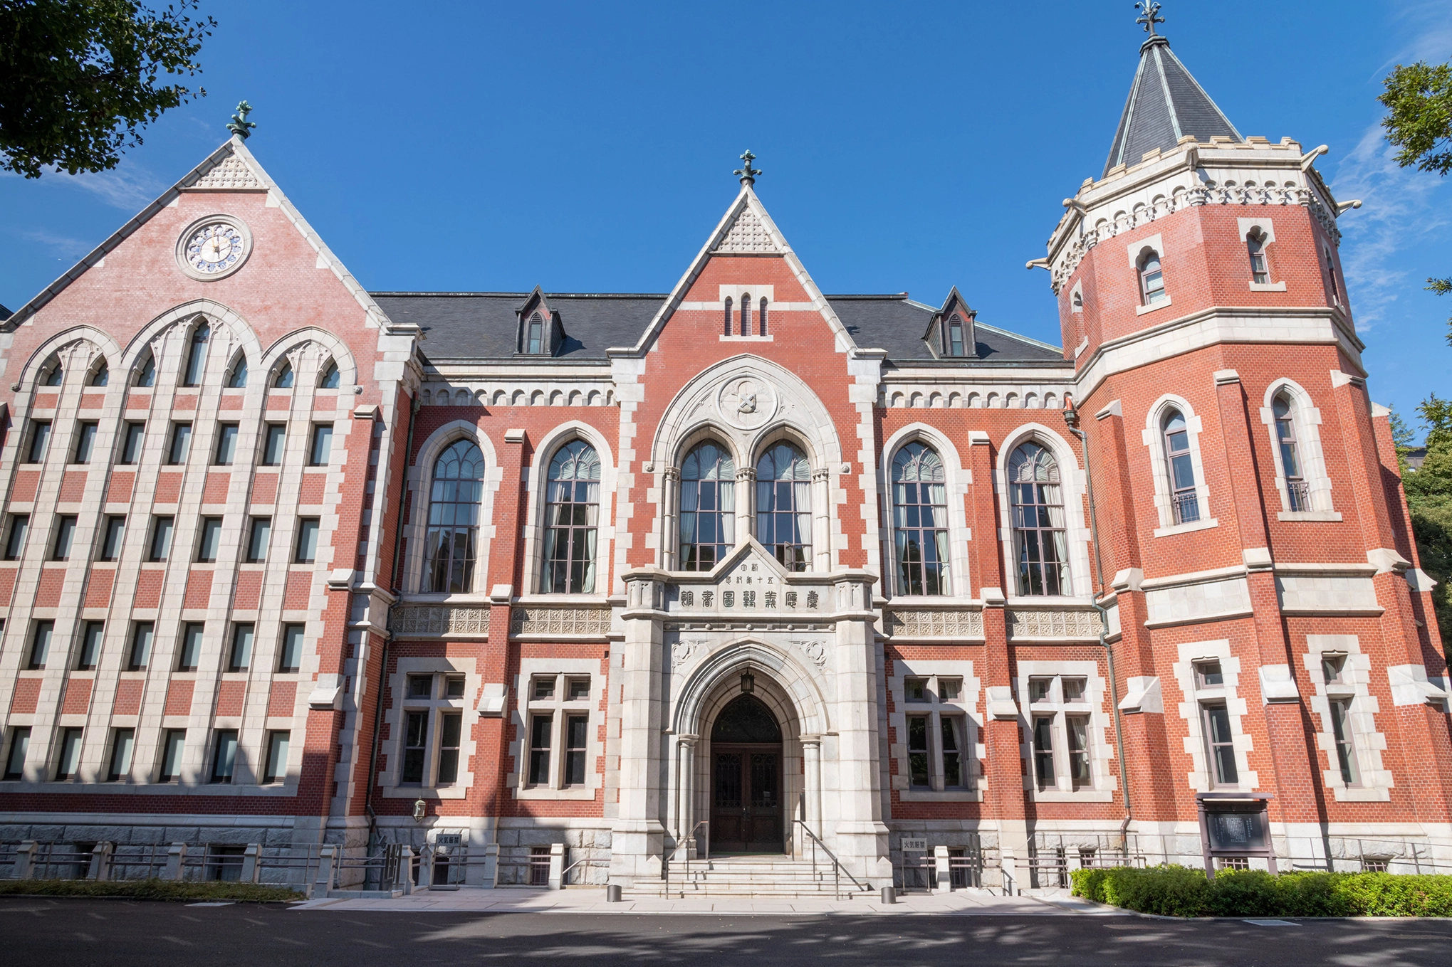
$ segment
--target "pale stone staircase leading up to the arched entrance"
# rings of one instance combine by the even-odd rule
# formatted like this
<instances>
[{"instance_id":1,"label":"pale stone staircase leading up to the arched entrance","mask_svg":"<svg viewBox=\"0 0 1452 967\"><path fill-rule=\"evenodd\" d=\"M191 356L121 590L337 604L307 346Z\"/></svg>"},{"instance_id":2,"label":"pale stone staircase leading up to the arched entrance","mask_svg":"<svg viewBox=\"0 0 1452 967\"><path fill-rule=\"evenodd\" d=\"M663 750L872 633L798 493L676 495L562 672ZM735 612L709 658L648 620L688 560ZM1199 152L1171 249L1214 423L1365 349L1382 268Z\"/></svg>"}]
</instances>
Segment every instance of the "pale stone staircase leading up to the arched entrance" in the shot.
<instances>
[{"instance_id":1,"label":"pale stone staircase leading up to the arched entrance","mask_svg":"<svg viewBox=\"0 0 1452 967\"><path fill-rule=\"evenodd\" d=\"M867 886L864 883L864 886ZM851 899L865 890L857 889L852 880L842 874L841 897ZM825 897L838 896L838 881L832 863L794 860L778 854L754 854L736 857L713 857L671 864L669 879L636 883L627 890L632 896L794 896Z\"/></svg>"}]
</instances>

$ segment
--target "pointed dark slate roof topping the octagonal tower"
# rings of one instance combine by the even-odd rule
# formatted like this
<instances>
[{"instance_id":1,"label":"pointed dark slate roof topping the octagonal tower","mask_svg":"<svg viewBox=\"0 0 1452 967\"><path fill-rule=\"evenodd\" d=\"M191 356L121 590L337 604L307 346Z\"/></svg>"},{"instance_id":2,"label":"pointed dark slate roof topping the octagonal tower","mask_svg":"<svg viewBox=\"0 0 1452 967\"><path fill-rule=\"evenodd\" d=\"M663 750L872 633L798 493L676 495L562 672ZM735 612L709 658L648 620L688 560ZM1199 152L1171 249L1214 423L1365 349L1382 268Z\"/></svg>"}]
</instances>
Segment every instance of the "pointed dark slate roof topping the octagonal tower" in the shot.
<instances>
[{"instance_id":1,"label":"pointed dark slate roof topping the octagonal tower","mask_svg":"<svg viewBox=\"0 0 1452 967\"><path fill-rule=\"evenodd\" d=\"M1214 136L1244 141L1175 57L1170 42L1154 35L1140 46L1140 67L1104 171L1108 174L1117 164L1138 164L1144 152L1156 148L1169 151L1185 135L1201 142Z\"/></svg>"}]
</instances>

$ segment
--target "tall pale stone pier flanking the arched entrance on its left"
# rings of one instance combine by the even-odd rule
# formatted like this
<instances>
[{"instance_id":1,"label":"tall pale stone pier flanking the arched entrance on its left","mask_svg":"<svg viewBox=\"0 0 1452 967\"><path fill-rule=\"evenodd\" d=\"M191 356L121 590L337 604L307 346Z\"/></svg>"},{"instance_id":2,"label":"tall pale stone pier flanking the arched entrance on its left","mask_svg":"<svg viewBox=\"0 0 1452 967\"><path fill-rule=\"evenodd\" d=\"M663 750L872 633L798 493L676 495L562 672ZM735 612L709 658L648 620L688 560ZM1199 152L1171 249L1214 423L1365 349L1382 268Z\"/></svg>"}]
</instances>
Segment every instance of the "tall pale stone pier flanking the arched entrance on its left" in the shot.
<instances>
[{"instance_id":1,"label":"tall pale stone pier flanking the arched entrance on its left","mask_svg":"<svg viewBox=\"0 0 1452 967\"><path fill-rule=\"evenodd\" d=\"M620 683L620 802L610 855L610 881L630 886L659 879L665 823L661 757L664 755L664 612L665 571L626 571L624 639L611 649L611 683ZM619 661L616 655L619 654ZM613 687L613 686L611 686Z\"/></svg>"}]
</instances>

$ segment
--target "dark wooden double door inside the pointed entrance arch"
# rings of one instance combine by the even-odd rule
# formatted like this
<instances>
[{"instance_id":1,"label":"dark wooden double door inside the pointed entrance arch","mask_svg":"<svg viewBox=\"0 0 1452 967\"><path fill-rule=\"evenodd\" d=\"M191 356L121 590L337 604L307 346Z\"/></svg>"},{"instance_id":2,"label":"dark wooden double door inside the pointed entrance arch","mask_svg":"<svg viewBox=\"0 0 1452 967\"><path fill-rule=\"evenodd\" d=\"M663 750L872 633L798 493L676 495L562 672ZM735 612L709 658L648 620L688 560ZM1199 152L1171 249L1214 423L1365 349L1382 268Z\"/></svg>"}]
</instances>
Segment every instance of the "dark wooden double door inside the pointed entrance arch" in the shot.
<instances>
[{"instance_id":1,"label":"dark wooden double door inside the pointed entrance arch","mask_svg":"<svg viewBox=\"0 0 1452 967\"><path fill-rule=\"evenodd\" d=\"M783 852L781 744L711 744L711 852Z\"/></svg>"}]
</instances>

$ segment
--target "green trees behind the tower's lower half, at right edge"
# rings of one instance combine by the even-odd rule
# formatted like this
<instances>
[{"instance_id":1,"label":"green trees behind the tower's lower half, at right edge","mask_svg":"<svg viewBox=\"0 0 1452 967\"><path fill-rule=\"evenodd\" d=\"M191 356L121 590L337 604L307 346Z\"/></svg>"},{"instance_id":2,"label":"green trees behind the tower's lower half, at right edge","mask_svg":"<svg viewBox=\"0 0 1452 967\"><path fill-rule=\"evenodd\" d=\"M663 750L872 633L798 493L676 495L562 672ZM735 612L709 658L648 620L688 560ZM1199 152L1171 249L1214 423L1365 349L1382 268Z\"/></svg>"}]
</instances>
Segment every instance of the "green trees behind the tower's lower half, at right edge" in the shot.
<instances>
[{"instance_id":1,"label":"green trees behind the tower's lower half, at right edge","mask_svg":"<svg viewBox=\"0 0 1452 967\"><path fill-rule=\"evenodd\" d=\"M1446 651L1452 644L1452 400L1433 393L1417 404L1417 413L1427 428L1427 457L1420 470L1403 467L1401 489L1407 494L1422 570L1437 581L1432 603ZM1397 449L1400 455L1401 448Z\"/></svg>"}]
</instances>

